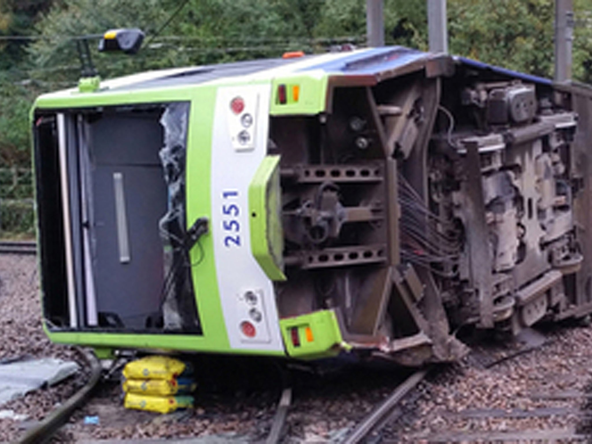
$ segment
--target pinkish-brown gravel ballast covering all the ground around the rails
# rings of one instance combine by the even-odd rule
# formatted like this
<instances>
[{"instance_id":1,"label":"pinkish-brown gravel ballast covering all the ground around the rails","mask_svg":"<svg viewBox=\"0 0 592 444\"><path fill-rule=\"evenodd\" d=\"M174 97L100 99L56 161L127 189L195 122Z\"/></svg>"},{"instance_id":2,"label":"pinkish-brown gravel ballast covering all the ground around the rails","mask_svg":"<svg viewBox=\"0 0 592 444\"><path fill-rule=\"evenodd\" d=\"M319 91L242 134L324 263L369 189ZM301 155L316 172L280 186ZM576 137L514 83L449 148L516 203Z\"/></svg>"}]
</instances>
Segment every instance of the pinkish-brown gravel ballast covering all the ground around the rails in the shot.
<instances>
[{"instance_id":1,"label":"pinkish-brown gravel ballast covering all the ground around the rails","mask_svg":"<svg viewBox=\"0 0 592 444\"><path fill-rule=\"evenodd\" d=\"M50 343L43 332L36 266L33 256L0 255L0 359L49 357L83 365L74 348ZM383 442L439 442L435 437L446 433L468 437L484 431L572 430L583 434L590 429L586 412L592 383L592 329L553 327L546 336L548 341L540 348L491 368L474 359L437 367L395 412L395 419L382 432ZM60 430L56 441L188 436L243 442L264 439L281 381L286 379L277 363L260 362L225 358L204 363L198 369L196 408L170 415L125 410L117 381L104 382ZM384 368L325 376L292 373L293 401L284 442L342 441L408 374ZM24 421L0 419L0 442L14 440L85 380L80 372L56 387L0 406L0 410L27 417ZM85 417L95 416L98 424L85 424Z\"/></svg>"}]
</instances>

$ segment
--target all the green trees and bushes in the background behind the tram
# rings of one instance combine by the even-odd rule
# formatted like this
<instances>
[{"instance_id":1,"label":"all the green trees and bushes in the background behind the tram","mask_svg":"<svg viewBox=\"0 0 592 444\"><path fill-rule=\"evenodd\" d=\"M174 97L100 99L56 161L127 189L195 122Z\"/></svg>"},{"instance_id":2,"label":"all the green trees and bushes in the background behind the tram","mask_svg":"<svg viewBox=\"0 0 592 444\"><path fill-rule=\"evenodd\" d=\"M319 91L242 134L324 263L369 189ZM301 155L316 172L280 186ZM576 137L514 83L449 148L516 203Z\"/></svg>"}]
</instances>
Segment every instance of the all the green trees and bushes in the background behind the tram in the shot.
<instances>
[{"instance_id":1,"label":"all the green trees and bushes in the background behind the tram","mask_svg":"<svg viewBox=\"0 0 592 444\"><path fill-rule=\"evenodd\" d=\"M0 40L0 168L30 163L34 97L76 84L80 65L72 37L95 35L89 44L103 78L365 42L365 0L188 0L155 37L182 1L0 0L0 36L41 37ZM427 1L384 0L387 44L427 50ZM591 1L574 0L574 11L573 78L592 83ZM448 0L450 51L552 77L554 12L554 0ZM96 51L99 34L118 27L146 32L139 54ZM19 189L13 197L30 192ZM3 193L6 186L0 186L0 198Z\"/></svg>"}]
</instances>

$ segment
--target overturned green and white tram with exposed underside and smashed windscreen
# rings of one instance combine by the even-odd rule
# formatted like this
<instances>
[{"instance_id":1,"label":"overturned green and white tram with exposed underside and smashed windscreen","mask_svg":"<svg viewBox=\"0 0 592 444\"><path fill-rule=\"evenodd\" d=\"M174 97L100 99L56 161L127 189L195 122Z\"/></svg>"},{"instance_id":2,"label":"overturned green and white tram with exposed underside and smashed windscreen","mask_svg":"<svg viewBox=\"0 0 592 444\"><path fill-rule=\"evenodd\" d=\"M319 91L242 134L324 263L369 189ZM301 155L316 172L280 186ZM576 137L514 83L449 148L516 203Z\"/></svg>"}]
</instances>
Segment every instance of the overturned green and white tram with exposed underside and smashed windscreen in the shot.
<instances>
[{"instance_id":1,"label":"overturned green and white tram with exposed underside and smashed windscreen","mask_svg":"<svg viewBox=\"0 0 592 444\"><path fill-rule=\"evenodd\" d=\"M34 104L44 326L400 365L592 311L592 89L381 47Z\"/></svg>"}]
</instances>

